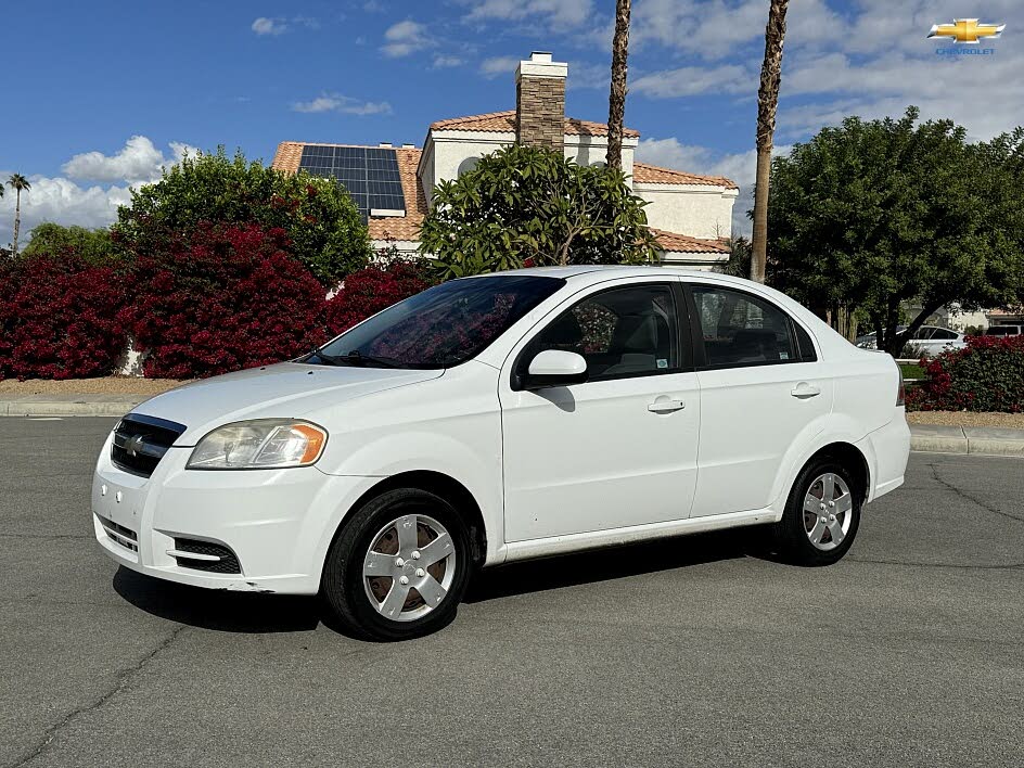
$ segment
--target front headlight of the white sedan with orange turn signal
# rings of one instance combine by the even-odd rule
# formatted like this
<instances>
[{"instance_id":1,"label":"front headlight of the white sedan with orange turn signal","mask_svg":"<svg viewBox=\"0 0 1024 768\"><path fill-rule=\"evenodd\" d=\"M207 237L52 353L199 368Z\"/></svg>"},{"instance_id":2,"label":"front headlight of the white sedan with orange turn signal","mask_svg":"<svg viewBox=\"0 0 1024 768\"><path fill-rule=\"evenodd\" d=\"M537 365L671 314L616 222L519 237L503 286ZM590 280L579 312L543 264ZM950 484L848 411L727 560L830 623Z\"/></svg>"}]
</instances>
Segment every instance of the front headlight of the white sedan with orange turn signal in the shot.
<instances>
[{"instance_id":1,"label":"front headlight of the white sedan with orange turn signal","mask_svg":"<svg viewBox=\"0 0 1024 768\"><path fill-rule=\"evenodd\" d=\"M308 466L327 445L328 433L304 421L258 419L218 426L189 457L190 470L270 470Z\"/></svg>"}]
</instances>

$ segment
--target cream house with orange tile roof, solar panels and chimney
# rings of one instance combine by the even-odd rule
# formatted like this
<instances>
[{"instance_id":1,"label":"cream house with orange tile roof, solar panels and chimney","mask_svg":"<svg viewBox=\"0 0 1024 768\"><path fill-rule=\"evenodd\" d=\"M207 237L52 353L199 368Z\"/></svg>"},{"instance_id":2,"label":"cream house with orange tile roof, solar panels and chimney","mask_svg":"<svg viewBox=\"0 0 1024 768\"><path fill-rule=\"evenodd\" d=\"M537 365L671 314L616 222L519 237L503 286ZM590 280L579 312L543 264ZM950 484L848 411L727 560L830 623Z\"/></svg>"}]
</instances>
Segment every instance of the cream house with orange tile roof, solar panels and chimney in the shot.
<instances>
[{"instance_id":1,"label":"cream house with orange tile roof, solar panels and chimney","mask_svg":"<svg viewBox=\"0 0 1024 768\"><path fill-rule=\"evenodd\" d=\"M334 176L353 194L374 247L412 254L434 188L514 142L560 150L580 165L603 164L607 126L565 116L568 66L534 52L515 71L515 108L431 124L422 148L358 146L284 141L273 167ZM666 264L713 269L728 260L735 182L660 168L633 158L640 135L626 129L623 170L633 193L648 201L648 223Z\"/></svg>"}]
</instances>

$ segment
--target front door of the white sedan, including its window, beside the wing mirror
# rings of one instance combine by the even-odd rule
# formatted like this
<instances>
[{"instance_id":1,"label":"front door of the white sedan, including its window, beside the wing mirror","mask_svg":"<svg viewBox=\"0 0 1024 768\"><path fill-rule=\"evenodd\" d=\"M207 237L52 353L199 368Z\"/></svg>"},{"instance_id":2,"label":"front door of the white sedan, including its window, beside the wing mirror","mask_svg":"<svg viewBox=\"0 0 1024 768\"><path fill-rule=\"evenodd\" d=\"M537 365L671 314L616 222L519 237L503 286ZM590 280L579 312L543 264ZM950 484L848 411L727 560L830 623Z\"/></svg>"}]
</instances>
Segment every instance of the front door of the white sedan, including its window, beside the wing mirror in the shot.
<instances>
[{"instance_id":1,"label":"front door of the white sedan, including its window, beside the wing mirror","mask_svg":"<svg viewBox=\"0 0 1024 768\"><path fill-rule=\"evenodd\" d=\"M505 540L680 520L696 486L700 391L677 280L616 281L567 299L513 349L499 384ZM526 389L543 349L588 381Z\"/></svg>"}]
</instances>

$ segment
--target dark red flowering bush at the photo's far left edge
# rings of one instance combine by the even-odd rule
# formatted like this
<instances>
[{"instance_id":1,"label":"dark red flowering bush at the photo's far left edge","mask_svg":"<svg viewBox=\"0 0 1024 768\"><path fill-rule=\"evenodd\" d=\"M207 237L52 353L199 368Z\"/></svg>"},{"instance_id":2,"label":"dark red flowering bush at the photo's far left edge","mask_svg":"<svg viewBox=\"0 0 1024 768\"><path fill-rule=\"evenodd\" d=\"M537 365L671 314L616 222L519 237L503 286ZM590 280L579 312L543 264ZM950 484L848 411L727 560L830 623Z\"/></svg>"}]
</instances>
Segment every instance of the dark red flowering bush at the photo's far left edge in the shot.
<instances>
[{"instance_id":1,"label":"dark red flowering bush at the photo's far left edge","mask_svg":"<svg viewBox=\"0 0 1024 768\"><path fill-rule=\"evenodd\" d=\"M127 344L124 285L75 253L0 267L0 379L108 375Z\"/></svg>"}]
</instances>

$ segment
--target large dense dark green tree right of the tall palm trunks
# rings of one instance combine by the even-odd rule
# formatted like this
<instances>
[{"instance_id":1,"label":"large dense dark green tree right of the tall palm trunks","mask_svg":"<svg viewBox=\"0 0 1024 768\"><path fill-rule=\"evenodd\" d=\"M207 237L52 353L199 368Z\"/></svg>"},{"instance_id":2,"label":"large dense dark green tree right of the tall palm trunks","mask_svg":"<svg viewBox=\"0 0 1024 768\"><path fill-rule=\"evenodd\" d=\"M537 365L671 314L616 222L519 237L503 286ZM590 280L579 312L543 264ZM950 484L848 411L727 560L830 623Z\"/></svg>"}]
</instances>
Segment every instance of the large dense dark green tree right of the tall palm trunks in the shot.
<instances>
[{"instance_id":1,"label":"large dense dark green tree right of the tall palm trunks","mask_svg":"<svg viewBox=\"0 0 1024 768\"><path fill-rule=\"evenodd\" d=\"M770 282L898 355L938 308L1024 296L1024 130L970 144L949 120L843 120L772 163ZM897 332L908 306L907 329ZM845 325L845 329L844 329Z\"/></svg>"}]
</instances>

